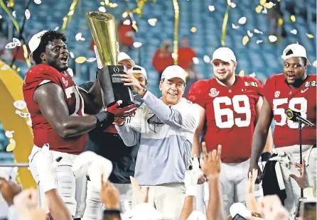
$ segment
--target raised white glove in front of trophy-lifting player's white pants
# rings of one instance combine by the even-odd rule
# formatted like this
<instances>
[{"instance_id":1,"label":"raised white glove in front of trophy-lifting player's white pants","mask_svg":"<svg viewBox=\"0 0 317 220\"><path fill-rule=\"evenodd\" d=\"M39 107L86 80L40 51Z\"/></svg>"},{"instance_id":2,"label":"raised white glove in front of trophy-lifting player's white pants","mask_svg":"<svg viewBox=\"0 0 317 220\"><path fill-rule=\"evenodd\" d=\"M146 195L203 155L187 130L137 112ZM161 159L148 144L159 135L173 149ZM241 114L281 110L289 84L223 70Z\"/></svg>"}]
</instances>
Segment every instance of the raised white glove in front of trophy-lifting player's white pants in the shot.
<instances>
[{"instance_id":1,"label":"raised white glove in front of trophy-lifting player's white pants","mask_svg":"<svg viewBox=\"0 0 317 220\"><path fill-rule=\"evenodd\" d=\"M57 158L57 160L52 160L48 144L43 145L42 149L38 152L36 166L38 168L41 188L44 189L44 192L48 192L50 189L57 189L56 167L58 167L61 158Z\"/></svg>"}]
</instances>

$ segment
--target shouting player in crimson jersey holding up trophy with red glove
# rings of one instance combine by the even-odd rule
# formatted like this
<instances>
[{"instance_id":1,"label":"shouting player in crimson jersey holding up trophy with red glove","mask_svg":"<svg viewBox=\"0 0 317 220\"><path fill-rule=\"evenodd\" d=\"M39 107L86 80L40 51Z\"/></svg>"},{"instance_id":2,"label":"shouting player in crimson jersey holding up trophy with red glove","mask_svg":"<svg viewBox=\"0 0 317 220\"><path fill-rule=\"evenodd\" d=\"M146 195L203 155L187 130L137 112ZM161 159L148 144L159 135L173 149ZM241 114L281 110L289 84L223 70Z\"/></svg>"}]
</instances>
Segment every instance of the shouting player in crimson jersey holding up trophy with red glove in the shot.
<instances>
[{"instance_id":1,"label":"shouting player in crimson jersey holding up trophy with red glove","mask_svg":"<svg viewBox=\"0 0 317 220\"><path fill-rule=\"evenodd\" d=\"M31 114L34 146L29 157L30 170L40 189L41 203L45 206L43 187L39 182L36 159L42 146L48 144L52 162L59 157L57 189L70 213L80 218L85 209L85 177L77 177L71 170L75 157L82 153L87 143L87 132L93 128L107 127L114 116L129 116L134 105L112 113L100 111L102 99L99 84L89 92L79 91L68 71L66 38L59 31L41 31L33 35L28 45L30 60L36 63L26 73L23 96ZM100 70L102 71L102 70ZM83 116L85 112L92 116ZM84 192L84 193L82 193Z\"/></svg>"}]
</instances>

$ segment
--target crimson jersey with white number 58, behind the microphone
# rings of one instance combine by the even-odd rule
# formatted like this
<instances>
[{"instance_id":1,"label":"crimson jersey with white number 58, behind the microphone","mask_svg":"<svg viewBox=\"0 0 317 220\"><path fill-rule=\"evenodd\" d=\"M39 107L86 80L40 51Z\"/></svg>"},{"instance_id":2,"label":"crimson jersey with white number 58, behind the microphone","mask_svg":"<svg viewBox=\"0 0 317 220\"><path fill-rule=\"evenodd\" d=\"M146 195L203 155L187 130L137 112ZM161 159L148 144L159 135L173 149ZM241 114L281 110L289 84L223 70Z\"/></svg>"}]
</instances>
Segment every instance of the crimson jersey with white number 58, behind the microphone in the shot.
<instances>
[{"instance_id":1,"label":"crimson jersey with white number 58, behind the microphone","mask_svg":"<svg viewBox=\"0 0 317 220\"><path fill-rule=\"evenodd\" d=\"M299 144L299 123L286 119L285 109L299 111L316 126L316 75L308 75L301 87L291 88L283 74L267 79L263 94L269 101L276 121L273 142L275 148ZM316 144L316 128L303 126L302 144Z\"/></svg>"}]
</instances>

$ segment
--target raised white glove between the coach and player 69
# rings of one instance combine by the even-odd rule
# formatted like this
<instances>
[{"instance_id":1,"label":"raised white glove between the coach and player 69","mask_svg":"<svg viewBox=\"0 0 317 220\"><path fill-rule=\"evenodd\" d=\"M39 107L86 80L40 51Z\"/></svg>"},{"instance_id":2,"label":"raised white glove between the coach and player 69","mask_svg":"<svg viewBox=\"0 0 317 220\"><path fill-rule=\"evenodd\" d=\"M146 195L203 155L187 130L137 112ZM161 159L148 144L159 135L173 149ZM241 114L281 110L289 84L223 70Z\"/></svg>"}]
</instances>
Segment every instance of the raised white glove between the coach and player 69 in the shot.
<instances>
[{"instance_id":1,"label":"raised white glove between the coach and player 69","mask_svg":"<svg viewBox=\"0 0 317 220\"><path fill-rule=\"evenodd\" d=\"M192 166L191 170L186 170L185 172L185 187L186 187L186 196L196 196L197 193L197 182L199 177L199 162L196 155L193 158L190 158L190 163Z\"/></svg>"}]
</instances>

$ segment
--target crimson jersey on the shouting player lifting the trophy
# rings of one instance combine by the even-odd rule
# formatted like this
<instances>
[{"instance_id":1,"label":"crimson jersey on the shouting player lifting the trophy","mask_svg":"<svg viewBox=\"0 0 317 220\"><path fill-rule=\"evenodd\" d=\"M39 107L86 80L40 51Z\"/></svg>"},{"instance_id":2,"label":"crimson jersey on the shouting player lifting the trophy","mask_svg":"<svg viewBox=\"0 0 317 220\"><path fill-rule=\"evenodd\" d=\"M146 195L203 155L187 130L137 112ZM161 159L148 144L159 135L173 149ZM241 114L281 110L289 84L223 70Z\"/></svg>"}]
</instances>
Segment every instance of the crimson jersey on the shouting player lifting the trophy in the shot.
<instances>
[{"instance_id":1,"label":"crimson jersey on the shouting player lifting the trophy","mask_svg":"<svg viewBox=\"0 0 317 220\"><path fill-rule=\"evenodd\" d=\"M34 144L41 148L45 143L49 143L50 150L80 154L85 149L87 134L71 138L61 137L50 126L41 113L40 106L33 99L36 88L48 82L58 84L63 89L70 115L82 116L84 112L84 101L67 71L58 72L54 67L43 64L32 67L24 79L23 97L31 115Z\"/></svg>"}]
</instances>

